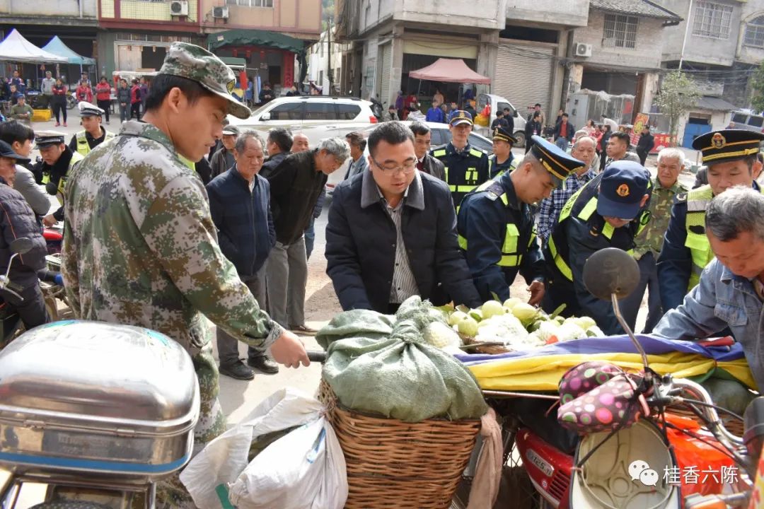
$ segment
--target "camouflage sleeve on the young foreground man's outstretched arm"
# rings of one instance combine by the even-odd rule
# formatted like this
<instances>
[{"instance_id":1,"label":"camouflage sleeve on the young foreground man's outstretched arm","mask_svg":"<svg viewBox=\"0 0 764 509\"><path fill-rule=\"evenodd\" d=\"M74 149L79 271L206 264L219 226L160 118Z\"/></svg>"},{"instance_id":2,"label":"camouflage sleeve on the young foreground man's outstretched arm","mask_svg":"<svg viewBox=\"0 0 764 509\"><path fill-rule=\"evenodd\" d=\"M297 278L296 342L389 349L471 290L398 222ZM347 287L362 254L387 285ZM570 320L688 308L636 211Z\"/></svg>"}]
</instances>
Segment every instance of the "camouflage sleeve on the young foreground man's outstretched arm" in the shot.
<instances>
[{"instance_id":1,"label":"camouflage sleeve on the young foreground man's outstretched arm","mask_svg":"<svg viewBox=\"0 0 764 509\"><path fill-rule=\"evenodd\" d=\"M178 290L225 332L251 346L270 346L283 333L220 251L201 181L171 179L148 209L141 234Z\"/></svg>"}]
</instances>

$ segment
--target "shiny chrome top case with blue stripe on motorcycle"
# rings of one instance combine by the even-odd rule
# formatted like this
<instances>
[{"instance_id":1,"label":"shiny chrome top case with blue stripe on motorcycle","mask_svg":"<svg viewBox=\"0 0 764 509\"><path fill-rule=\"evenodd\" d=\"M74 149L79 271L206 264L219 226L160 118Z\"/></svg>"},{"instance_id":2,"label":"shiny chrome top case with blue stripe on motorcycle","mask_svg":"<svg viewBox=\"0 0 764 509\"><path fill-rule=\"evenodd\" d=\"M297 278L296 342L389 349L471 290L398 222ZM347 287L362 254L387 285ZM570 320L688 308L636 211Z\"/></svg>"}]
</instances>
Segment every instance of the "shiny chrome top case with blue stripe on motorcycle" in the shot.
<instances>
[{"instance_id":1,"label":"shiny chrome top case with blue stripe on motorcycle","mask_svg":"<svg viewBox=\"0 0 764 509\"><path fill-rule=\"evenodd\" d=\"M153 480L189 460L193 362L141 327L61 321L0 351L0 465Z\"/></svg>"}]
</instances>

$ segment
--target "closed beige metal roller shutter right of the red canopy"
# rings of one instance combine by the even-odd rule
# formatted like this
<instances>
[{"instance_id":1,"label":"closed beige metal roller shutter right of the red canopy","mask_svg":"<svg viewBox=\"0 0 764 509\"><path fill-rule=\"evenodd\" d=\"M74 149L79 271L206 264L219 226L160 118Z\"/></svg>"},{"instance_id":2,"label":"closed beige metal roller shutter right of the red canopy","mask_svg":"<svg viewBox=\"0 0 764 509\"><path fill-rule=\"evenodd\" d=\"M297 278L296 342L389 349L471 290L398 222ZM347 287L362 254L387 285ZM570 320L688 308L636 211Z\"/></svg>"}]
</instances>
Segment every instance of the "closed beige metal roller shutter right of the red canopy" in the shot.
<instances>
[{"instance_id":1,"label":"closed beige metal roller shutter right of the red canopy","mask_svg":"<svg viewBox=\"0 0 764 509\"><path fill-rule=\"evenodd\" d=\"M528 116L528 106L537 102L549 118L554 54L553 47L499 40L492 92L507 98L523 118Z\"/></svg>"}]
</instances>

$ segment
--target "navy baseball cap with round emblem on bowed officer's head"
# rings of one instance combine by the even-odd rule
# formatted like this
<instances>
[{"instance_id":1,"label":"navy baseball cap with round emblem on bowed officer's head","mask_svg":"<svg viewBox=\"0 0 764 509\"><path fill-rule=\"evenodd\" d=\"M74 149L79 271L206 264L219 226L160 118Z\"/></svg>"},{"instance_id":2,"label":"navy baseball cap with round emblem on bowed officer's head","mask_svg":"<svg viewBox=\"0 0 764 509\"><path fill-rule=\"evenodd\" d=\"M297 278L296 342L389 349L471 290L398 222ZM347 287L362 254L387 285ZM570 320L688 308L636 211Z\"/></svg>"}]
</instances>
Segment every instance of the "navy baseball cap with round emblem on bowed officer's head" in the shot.
<instances>
[{"instance_id":1,"label":"navy baseball cap with round emblem on bowed officer's head","mask_svg":"<svg viewBox=\"0 0 764 509\"><path fill-rule=\"evenodd\" d=\"M625 160L610 163L602 173L597 214L633 219L642 208L649 184L649 173L641 164Z\"/></svg>"}]
</instances>

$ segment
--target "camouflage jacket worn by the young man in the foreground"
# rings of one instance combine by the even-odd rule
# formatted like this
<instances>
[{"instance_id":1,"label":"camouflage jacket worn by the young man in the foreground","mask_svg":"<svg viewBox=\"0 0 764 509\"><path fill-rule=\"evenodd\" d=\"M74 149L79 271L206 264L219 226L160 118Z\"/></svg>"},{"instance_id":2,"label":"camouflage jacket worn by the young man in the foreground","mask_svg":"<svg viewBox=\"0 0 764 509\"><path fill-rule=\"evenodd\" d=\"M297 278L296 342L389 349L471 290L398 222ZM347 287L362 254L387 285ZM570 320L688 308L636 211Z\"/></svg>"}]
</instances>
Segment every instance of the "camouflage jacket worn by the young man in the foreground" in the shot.
<instances>
[{"instance_id":1,"label":"camouflage jacket worn by the young man in the foreground","mask_svg":"<svg viewBox=\"0 0 764 509\"><path fill-rule=\"evenodd\" d=\"M201 179L161 130L126 122L66 186L63 279L80 319L139 325L196 356L202 317L253 346L282 333L222 255Z\"/></svg>"}]
</instances>

